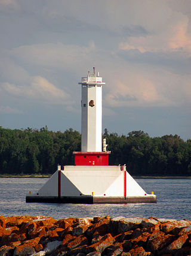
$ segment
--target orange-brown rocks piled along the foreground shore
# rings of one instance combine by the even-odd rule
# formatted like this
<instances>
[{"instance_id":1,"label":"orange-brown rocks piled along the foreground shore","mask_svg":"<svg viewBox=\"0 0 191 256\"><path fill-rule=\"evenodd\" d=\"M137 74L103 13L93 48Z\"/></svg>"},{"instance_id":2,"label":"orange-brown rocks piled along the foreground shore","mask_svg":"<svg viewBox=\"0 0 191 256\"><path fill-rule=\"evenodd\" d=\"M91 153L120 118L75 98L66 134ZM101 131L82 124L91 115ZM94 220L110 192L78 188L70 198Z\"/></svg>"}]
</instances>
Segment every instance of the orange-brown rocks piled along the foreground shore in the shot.
<instances>
[{"instance_id":1,"label":"orange-brown rocks piled along the foreground shore","mask_svg":"<svg viewBox=\"0 0 191 256\"><path fill-rule=\"evenodd\" d=\"M191 221L1 215L0 255L191 255Z\"/></svg>"}]
</instances>

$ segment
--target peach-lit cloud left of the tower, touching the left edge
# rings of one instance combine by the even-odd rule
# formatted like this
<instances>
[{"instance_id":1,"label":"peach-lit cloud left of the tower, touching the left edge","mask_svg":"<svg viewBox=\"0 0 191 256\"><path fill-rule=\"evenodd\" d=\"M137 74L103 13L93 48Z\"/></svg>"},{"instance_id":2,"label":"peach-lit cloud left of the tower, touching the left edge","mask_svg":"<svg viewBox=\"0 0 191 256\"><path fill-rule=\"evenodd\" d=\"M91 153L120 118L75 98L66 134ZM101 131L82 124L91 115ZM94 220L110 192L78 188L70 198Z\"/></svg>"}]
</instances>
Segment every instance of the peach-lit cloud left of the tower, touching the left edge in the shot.
<instances>
[{"instance_id":1,"label":"peach-lit cloud left of the tower, touching the left edge","mask_svg":"<svg viewBox=\"0 0 191 256\"><path fill-rule=\"evenodd\" d=\"M48 82L47 79L41 76L32 77L32 82L29 85L14 85L11 83L2 83L1 91L7 92L14 97L39 101L47 104L71 104L69 95L55 85Z\"/></svg>"}]
</instances>

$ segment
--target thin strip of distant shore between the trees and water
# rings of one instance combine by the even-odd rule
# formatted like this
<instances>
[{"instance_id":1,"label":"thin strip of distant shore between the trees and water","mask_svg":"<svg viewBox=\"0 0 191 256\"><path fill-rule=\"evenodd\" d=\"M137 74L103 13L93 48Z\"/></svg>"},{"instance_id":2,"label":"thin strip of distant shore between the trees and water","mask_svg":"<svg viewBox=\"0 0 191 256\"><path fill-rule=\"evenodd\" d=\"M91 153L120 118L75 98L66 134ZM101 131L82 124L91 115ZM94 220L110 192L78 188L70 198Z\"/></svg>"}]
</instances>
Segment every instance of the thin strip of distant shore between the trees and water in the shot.
<instances>
[{"instance_id":1,"label":"thin strip of distant shore between the trees and water","mask_svg":"<svg viewBox=\"0 0 191 256\"><path fill-rule=\"evenodd\" d=\"M0 178L49 178L53 174L0 174ZM133 176L134 179L191 179L191 176Z\"/></svg>"}]
</instances>

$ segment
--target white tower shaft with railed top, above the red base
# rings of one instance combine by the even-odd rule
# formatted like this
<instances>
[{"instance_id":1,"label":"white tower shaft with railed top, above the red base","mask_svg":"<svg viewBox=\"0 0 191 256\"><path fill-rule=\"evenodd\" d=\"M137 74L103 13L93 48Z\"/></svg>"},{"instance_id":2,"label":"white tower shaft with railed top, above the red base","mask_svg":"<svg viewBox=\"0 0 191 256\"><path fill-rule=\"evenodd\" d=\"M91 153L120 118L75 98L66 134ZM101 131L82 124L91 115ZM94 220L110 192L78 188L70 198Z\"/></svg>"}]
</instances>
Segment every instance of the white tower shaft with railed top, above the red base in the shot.
<instances>
[{"instance_id":1,"label":"white tower shaft with railed top, above the red base","mask_svg":"<svg viewBox=\"0 0 191 256\"><path fill-rule=\"evenodd\" d=\"M102 77L99 72L82 77L82 152L101 152Z\"/></svg>"}]
</instances>

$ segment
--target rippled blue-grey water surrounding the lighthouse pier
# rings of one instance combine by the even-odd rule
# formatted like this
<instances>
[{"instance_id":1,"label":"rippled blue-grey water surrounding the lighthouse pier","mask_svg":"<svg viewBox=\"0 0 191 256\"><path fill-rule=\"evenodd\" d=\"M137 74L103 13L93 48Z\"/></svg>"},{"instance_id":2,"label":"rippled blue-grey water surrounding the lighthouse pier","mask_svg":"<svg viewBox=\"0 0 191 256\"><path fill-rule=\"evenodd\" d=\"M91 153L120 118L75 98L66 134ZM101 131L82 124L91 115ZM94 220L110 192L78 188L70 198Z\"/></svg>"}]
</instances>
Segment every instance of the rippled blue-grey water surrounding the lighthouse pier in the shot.
<instances>
[{"instance_id":1,"label":"rippled blue-grey water surrounding the lighthouse pier","mask_svg":"<svg viewBox=\"0 0 191 256\"><path fill-rule=\"evenodd\" d=\"M136 179L157 203L50 204L25 203L29 191L36 192L47 178L0 178L0 215L43 215L56 219L93 216L139 216L191 220L191 179Z\"/></svg>"}]
</instances>

